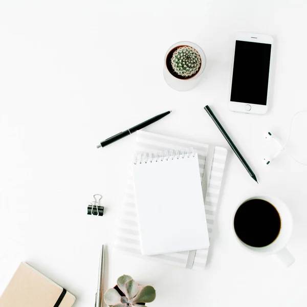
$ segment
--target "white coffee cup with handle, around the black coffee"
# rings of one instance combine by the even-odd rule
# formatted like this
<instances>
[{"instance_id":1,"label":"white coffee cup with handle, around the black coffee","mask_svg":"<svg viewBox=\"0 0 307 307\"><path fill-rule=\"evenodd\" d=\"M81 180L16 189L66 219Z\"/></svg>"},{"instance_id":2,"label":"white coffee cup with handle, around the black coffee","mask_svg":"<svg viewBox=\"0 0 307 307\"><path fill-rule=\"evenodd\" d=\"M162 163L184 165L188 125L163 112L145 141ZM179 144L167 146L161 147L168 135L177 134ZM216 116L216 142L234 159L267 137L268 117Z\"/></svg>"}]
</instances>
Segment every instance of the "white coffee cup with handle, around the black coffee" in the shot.
<instances>
[{"instance_id":1,"label":"white coffee cup with handle, around the black coffee","mask_svg":"<svg viewBox=\"0 0 307 307\"><path fill-rule=\"evenodd\" d=\"M264 200L272 204L278 211L280 220L281 220L281 227L280 227L280 231L279 231L277 238L271 244L264 246L264 247L253 247L253 246L249 246L245 244L242 240L239 239L239 237L237 236L234 230L234 217L235 217L235 213L237 212L238 208L245 202L250 201L250 200L255 200L255 199ZM282 201L272 196L255 196L255 197L245 200L244 202L241 202L235 208L232 219L231 219L231 228L232 228L234 237L236 238L237 242L243 248L251 252L257 253L259 255L274 255L286 267L290 267L295 261L292 254L286 248L289 242L291 233L292 233L292 227L293 227L293 220L292 220L292 215L291 215L290 210L288 209L286 204L284 204Z\"/></svg>"}]
</instances>

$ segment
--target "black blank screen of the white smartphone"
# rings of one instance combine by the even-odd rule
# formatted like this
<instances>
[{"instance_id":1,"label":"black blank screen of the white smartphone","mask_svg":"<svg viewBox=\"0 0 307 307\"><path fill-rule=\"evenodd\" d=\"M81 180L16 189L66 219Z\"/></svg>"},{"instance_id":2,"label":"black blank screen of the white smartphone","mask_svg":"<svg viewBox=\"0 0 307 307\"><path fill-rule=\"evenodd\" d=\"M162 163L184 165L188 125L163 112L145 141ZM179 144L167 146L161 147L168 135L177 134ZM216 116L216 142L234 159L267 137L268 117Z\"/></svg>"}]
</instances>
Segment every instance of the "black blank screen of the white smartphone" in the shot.
<instances>
[{"instance_id":1,"label":"black blank screen of the white smartphone","mask_svg":"<svg viewBox=\"0 0 307 307\"><path fill-rule=\"evenodd\" d=\"M267 104L271 47L269 43L236 40L231 101Z\"/></svg>"}]
</instances>

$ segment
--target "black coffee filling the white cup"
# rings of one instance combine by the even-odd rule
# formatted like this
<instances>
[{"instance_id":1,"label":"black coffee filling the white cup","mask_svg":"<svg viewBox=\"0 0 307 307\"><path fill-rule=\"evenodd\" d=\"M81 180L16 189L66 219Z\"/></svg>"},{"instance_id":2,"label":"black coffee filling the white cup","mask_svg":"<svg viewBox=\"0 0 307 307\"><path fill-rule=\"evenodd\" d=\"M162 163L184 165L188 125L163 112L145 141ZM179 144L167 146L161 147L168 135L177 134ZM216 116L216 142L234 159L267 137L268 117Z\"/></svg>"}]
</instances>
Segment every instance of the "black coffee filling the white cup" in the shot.
<instances>
[{"instance_id":1,"label":"black coffee filling the white cup","mask_svg":"<svg viewBox=\"0 0 307 307\"><path fill-rule=\"evenodd\" d=\"M253 247L264 247L277 238L281 221L272 204L264 200L250 200L238 208L233 224L242 242Z\"/></svg>"}]
</instances>

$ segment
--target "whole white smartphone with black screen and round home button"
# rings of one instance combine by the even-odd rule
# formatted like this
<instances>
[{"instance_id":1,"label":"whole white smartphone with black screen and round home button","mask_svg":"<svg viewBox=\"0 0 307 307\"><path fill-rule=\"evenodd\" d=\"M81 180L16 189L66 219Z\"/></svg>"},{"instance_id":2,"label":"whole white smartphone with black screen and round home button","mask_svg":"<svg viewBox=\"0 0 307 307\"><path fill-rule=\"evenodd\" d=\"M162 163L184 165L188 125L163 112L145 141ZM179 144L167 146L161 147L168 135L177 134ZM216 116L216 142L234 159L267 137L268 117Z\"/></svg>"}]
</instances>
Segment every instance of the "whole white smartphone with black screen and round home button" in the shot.
<instances>
[{"instance_id":1,"label":"whole white smartphone with black screen and round home button","mask_svg":"<svg viewBox=\"0 0 307 307\"><path fill-rule=\"evenodd\" d=\"M273 37L238 32L233 49L228 108L234 112L265 114Z\"/></svg>"}]
</instances>

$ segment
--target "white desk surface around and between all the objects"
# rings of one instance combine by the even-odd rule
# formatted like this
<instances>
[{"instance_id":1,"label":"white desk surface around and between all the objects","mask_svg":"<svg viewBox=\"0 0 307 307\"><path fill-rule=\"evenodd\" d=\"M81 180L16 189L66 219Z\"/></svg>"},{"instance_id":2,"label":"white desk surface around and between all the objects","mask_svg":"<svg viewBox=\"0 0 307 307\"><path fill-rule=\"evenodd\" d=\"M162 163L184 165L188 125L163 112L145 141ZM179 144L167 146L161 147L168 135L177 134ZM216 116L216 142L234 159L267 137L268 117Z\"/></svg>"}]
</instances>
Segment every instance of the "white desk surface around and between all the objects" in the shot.
<instances>
[{"instance_id":1,"label":"white desk surface around and between all the objects","mask_svg":"<svg viewBox=\"0 0 307 307\"><path fill-rule=\"evenodd\" d=\"M0 293L27 261L94 305L99 250L107 245L104 288L121 274L152 284L166 306L302 306L307 279L307 167L274 152L266 129L282 140L290 119L306 108L305 1L72 1L0 3ZM267 115L227 111L232 39L236 31L275 38ZM179 40L207 55L205 76L190 92L162 76L166 50ZM203 107L209 104L260 184L247 174ZM208 266L189 271L112 253L135 136L96 145L151 116L173 113L146 131L229 149ZM305 138L304 138L305 140ZM101 193L103 217L86 215ZM230 232L237 203L271 194L294 217L285 269L240 248Z\"/></svg>"}]
</instances>

